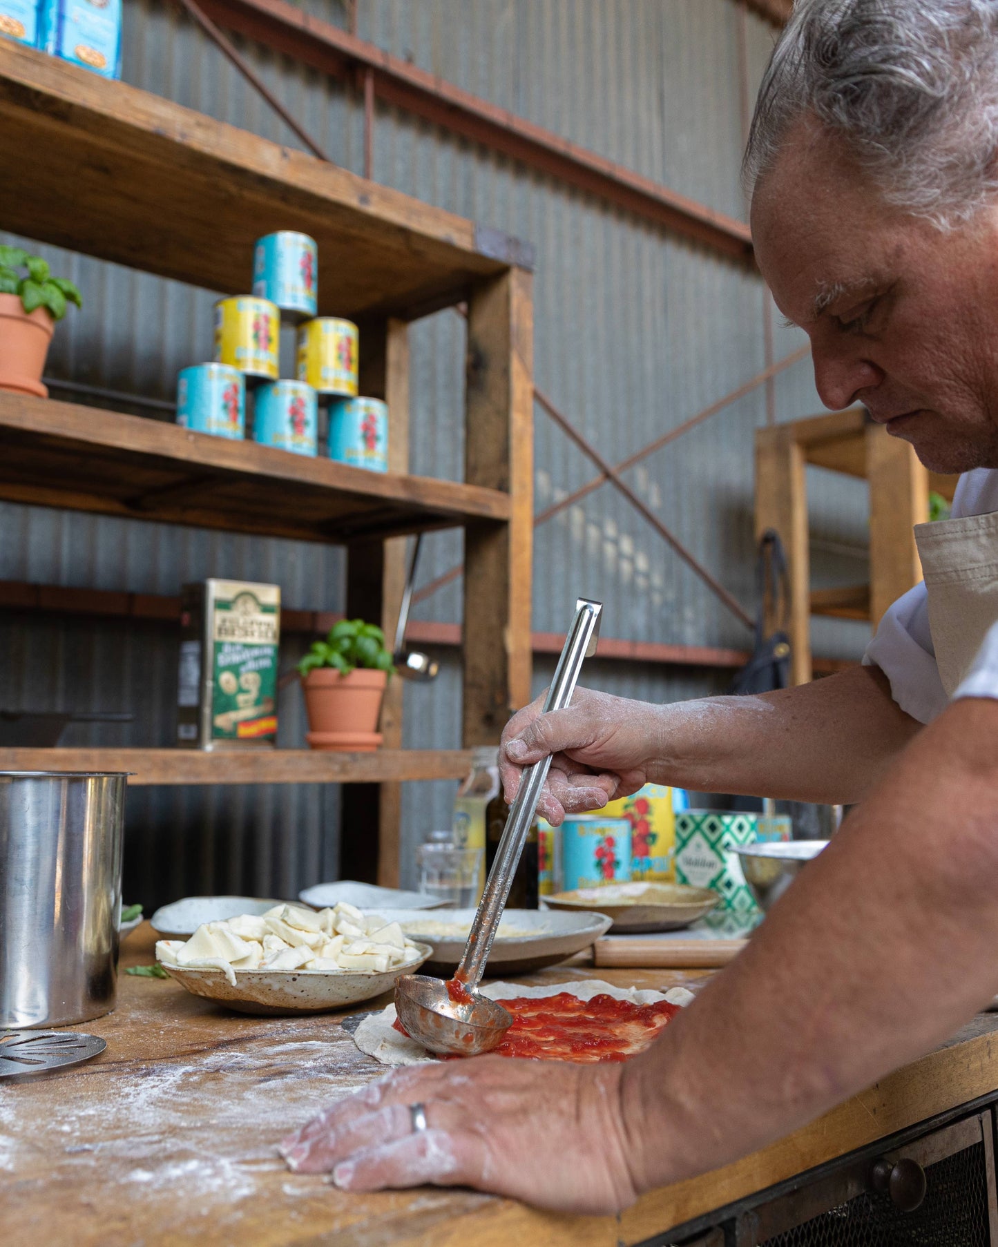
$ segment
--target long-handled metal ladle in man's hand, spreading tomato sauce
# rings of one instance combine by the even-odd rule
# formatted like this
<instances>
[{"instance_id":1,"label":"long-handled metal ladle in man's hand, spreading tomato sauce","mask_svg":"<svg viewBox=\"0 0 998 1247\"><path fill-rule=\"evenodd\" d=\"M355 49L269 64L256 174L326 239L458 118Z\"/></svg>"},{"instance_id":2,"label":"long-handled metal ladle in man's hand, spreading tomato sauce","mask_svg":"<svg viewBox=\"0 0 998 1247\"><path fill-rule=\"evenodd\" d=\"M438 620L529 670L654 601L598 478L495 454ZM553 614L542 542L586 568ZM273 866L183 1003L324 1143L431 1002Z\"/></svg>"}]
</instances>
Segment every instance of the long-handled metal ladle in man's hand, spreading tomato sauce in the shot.
<instances>
[{"instance_id":1,"label":"long-handled metal ladle in man's hand, spreading tomato sauce","mask_svg":"<svg viewBox=\"0 0 998 1247\"><path fill-rule=\"evenodd\" d=\"M596 652L601 612L601 602L580 597L575 604L575 620L565 637L565 646L548 690L545 713L564 710L571 701L583 660L591 658ZM520 788L509 811L455 975L469 999L454 1000L448 984L425 974L405 974L395 983L395 1013L399 1021L408 1035L432 1052L457 1052L463 1056L488 1052L513 1025L513 1018L500 1004L478 994L478 985L550 766L549 754L526 767L520 778Z\"/></svg>"}]
</instances>

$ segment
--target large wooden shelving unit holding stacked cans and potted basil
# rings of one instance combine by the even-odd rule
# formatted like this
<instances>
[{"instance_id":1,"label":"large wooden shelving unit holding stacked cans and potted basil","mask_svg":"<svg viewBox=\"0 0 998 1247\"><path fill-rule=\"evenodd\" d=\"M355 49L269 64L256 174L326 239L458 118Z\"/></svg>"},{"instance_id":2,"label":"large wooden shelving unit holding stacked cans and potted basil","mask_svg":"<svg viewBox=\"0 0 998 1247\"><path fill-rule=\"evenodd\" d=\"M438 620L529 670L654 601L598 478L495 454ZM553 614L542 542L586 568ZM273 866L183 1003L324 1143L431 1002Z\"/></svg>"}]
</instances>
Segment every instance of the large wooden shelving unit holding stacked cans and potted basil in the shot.
<instances>
[{"instance_id":1,"label":"large wooden shelving unit holding stacked cans and potted basil","mask_svg":"<svg viewBox=\"0 0 998 1247\"><path fill-rule=\"evenodd\" d=\"M225 293L253 242L318 242L319 314L361 327L361 393L389 408L389 471L67 403L0 394L0 498L347 546L347 611L394 628L403 534L464 529L463 744L530 696L531 248L124 82L0 40L0 161L31 168L0 228ZM86 293L86 292L85 292ZM407 323L468 311L465 483L408 474ZM150 327L155 333L155 325ZM399 783L457 778L463 751L403 751L389 685L375 754L0 749L19 769L126 769L133 783L344 783L351 868L398 879ZM372 829L379 827L379 837ZM377 863L377 870L375 870Z\"/></svg>"}]
</instances>

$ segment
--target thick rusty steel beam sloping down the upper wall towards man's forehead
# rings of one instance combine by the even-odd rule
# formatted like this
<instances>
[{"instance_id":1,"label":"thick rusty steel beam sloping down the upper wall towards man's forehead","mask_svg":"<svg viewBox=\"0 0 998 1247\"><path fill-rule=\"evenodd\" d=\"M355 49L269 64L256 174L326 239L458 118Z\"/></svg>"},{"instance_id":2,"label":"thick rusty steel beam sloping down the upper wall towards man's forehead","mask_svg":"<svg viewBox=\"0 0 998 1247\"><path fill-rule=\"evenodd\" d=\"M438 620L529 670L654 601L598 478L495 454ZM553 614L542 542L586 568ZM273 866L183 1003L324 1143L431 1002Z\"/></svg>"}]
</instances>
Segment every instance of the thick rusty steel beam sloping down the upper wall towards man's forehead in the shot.
<instances>
[{"instance_id":1,"label":"thick rusty steel beam sloping down the upper wall towards man's forehead","mask_svg":"<svg viewBox=\"0 0 998 1247\"><path fill-rule=\"evenodd\" d=\"M479 142L599 198L650 218L725 256L752 258L748 227L606 160L408 61L390 56L287 0L200 0L220 25L326 74L373 72L385 104Z\"/></svg>"}]
</instances>

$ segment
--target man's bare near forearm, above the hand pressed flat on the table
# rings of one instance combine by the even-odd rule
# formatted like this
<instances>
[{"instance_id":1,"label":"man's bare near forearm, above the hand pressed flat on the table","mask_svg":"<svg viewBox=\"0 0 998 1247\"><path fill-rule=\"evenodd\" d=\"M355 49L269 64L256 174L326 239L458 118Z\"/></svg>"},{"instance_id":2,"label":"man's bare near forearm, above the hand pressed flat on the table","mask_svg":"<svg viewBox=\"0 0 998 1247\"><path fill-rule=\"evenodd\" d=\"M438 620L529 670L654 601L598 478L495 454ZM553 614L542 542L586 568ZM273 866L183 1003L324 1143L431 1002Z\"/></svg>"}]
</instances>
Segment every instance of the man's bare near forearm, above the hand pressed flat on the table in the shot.
<instances>
[{"instance_id":1,"label":"man's bare near forearm, above the hand pressed flat on the table","mask_svg":"<svg viewBox=\"0 0 998 1247\"><path fill-rule=\"evenodd\" d=\"M948 1038L998 989L998 702L961 701L625 1066L639 1190L781 1137Z\"/></svg>"}]
</instances>

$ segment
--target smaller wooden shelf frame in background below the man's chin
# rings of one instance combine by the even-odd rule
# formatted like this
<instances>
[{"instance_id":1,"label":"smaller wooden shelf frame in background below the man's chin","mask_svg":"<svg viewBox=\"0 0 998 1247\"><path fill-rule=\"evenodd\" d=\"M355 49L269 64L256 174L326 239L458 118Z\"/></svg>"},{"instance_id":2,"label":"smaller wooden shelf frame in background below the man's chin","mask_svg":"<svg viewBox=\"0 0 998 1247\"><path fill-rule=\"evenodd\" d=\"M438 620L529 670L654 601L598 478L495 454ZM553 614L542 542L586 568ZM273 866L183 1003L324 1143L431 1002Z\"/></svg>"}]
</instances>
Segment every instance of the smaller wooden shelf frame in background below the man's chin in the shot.
<instances>
[{"instance_id":1,"label":"smaller wooden shelf frame in background below the man's chin","mask_svg":"<svg viewBox=\"0 0 998 1247\"><path fill-rule=\"evenodd\" d=\"M811 589L807 486L813 464L870 483L870 584ZM811 616L870 620L922 579L913 526L928 519L928 494L952 501L956 476L929 473L907 441L892 438L861 407L756 429L756 539L776 529L790 579L791 681L807 683Z\"/></svg>"}]
</instances>

